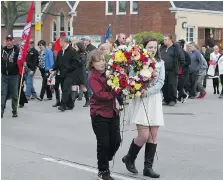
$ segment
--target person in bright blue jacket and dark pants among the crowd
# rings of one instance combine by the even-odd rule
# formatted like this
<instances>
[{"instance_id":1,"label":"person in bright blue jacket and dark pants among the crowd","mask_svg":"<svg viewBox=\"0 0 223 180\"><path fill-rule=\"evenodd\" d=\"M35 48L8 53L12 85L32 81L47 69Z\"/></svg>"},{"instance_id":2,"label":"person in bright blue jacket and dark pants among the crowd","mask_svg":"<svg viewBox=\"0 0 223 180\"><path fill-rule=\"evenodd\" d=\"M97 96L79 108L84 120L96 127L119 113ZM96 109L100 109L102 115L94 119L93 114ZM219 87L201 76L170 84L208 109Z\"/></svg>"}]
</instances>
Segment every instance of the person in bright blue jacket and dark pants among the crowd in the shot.
<instances>
[{"instance_id":1,"label":"person in bright blue jacket and dark pants among the crowd","mask_svg":"<svg viewBox=\"0 0 223 180\"><path fill-rule=\"evenodd\" d=\"M40 91L40 96L37 97L37 99L42 101L46 92L47 99L52 100L52 92L50 86L47 85L47 79L50 75L49 69L54 64L53 52L48 47L46 47L46 41L44 40L40 40L38 42L38 46L40 48L38 67L42 76L42 88Z\"/></svg>"}]
</instances>

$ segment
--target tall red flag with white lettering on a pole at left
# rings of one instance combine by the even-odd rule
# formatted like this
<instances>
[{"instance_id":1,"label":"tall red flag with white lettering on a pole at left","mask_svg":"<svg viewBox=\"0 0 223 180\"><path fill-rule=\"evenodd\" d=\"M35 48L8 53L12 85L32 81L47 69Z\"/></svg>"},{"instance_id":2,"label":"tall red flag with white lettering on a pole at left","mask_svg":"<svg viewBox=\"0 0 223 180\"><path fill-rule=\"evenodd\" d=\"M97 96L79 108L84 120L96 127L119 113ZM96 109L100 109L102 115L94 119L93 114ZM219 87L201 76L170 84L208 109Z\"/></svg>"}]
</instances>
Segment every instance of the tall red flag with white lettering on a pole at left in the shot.
<instances>
[{"instance_id":1,"label":"tall red flag with white lettering on a pole at left","mask_svg":"<svg viewBox=\"0 0 223 180\"><path fill-rule=\"evenodd\" d=\"M30 40L30 36L31 36L31 26L32 26L32 18L33 18L33 12L34 12L34 1L32 1L31 5L30 5L30 9L28 12L28 16L26 19L26 24L22 33L22 43L20 45L20 49L19 49L19 56L18 56L18 60L17 60L17 65L19 68L19 74L22 75L22 71L23 71L23 65L24 62L26 61L26 54L27 54L27 50L29 48L29 40Z\"/></svg>"}]
</instances>

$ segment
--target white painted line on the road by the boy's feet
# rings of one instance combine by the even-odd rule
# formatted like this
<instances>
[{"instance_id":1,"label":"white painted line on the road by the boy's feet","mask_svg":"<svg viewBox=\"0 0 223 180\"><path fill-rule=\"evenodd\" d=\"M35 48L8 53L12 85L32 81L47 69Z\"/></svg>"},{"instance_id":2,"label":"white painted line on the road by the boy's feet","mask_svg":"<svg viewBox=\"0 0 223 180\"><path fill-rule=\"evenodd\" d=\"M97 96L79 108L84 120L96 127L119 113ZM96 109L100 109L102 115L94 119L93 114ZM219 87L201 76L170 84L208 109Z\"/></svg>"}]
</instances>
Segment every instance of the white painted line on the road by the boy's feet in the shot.
<instances>
[{"instance_id":1,"label":"white painted line on the road by the boy's feet","mask_svg":"<svg viewBox=\"0 0 223 180\"><path fill-rule=\"evenodd\" d=\"M80 164L70 163L70 162L57 160L57 159L54 159L54 158L48 158L48 157L43 158L43 160L49 161L49 162L54 162L54 163L65 165L65 166L69 166L69 167L73 167L73 168L88 171L88 172L92 172L92 173L95 173L95 174L98 173L97 169L87 167L87 166L84 166L84 165L80 165ZM116 173L112 173L111 175L112 175L112 177L117 178L117 179L121 179L121 180L136 180L136 178L129 178L129 177L122 176L122 175L119 175L119 174L116 174Z\"/></svg>"}]
</instances>

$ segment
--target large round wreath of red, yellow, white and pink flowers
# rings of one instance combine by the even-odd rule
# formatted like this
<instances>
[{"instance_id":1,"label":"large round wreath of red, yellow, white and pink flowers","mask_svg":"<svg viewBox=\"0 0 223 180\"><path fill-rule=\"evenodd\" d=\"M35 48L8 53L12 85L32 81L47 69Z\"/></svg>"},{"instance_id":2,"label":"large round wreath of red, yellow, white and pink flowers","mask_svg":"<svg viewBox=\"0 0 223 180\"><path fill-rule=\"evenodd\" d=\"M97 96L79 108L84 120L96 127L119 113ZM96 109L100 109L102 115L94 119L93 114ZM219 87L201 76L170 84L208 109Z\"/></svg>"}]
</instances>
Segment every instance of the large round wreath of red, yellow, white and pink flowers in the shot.
<instances>
[{"instance_id":1,"label":"large round wreath of red, yellow, white and pink flowers","mask_svg":"<svg viewBox=\"0 0 223 180\"><path fill-rule=\"evenodd\" d=\"M119 46L107 61L107 84L116 93L140 97L157 77L156 60L139 45Z\"/></svg>"}]
</instances>

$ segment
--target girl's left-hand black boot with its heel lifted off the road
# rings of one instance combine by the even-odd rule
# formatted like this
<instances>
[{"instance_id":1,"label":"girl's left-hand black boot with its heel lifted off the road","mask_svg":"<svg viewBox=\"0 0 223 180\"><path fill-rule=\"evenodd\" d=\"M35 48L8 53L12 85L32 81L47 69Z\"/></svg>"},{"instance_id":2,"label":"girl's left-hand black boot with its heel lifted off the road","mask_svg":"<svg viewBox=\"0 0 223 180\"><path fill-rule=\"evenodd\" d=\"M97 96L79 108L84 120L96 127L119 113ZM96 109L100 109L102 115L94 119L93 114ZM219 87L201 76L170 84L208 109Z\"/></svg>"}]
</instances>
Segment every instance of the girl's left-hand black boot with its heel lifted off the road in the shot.
<instances>
[{"instance_id":1,"label":"girl's left-hand black boot with its heel lifted off the road","mask_svg":"<svg viewBox=\"0 0 223 180\"><path fill-rule=\"evenodd\" d=\"M141 148L142 147L139 147L134 143L133 139L128 154L122 158L122 162L125 163L126 169L133 174L138 173L135 167L135 160Z\"/></svg>"}]
</instances>

